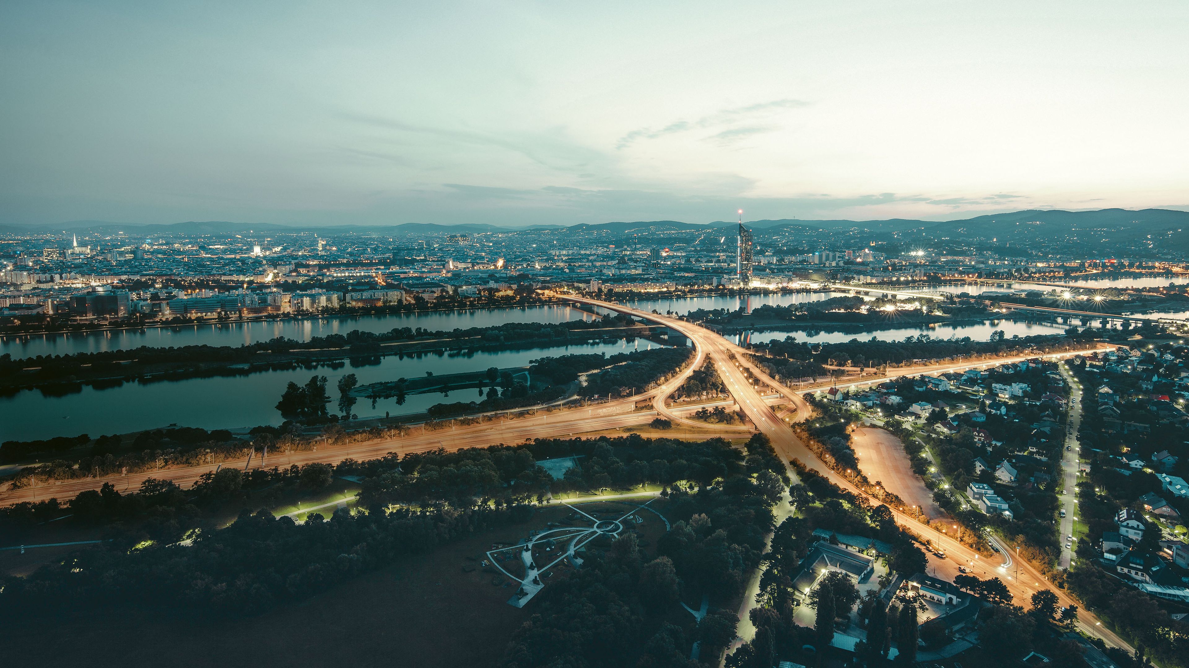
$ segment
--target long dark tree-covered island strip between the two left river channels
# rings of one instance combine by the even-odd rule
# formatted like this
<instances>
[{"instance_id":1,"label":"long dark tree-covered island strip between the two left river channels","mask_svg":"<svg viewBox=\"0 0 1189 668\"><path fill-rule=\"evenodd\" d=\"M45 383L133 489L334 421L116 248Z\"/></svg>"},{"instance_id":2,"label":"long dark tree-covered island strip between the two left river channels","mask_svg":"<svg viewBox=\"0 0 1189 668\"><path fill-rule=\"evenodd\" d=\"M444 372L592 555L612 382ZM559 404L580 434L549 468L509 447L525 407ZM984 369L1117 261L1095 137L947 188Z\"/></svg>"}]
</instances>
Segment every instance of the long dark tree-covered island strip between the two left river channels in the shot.
<instances>
[{"instance_id":1,"label":"long dark tree-covered island strip between the two left river channels","mask_svg":"<svg viewBox=\"0 0 1189 668\"><path fill-rule=\"evenodd\" d=\"M627 316L574 320L558 324L503 323L453 330L396 327L389 332L352 330L347 334L315 336L309 341L277 338L243 346L150 347L37 355L12 359L0 355L0 395L23 389L42 389L49 396L124 383L182 380L210 376L247 374L263 371L316 368L341 360L378 360L386 355L440 351L498 351L551 347L581 340L614 336L648 336L652 328Z\"/></svg>"}]
</instances>

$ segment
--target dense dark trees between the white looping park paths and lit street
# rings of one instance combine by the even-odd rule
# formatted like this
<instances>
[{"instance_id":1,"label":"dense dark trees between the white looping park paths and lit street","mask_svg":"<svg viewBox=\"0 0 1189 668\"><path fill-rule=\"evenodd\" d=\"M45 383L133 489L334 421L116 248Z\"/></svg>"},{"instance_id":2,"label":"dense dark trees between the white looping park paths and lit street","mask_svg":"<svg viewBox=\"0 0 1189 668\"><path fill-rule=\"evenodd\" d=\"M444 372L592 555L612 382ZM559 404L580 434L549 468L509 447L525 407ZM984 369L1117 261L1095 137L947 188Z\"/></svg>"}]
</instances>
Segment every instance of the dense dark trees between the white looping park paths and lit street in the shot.
<instances>
[{"instance_id":1,"label":"dense dark trees between the white looping park paths and lit street","mask_svg":"<svg viewBox=\"0 0 1189 668\"><path fill-rule=\"evenodd\" d=\"M583 568L537 595L537 611L512 637L503 666L693 668L694 641L703 658L717 657L734 636L735 617L712 611L694 626L679 599L697 607L703 594L725 604L740 593L760 562L786 484L765 436L748 442L742 461L732 452L721 460L721 485L669 494L665 515L673 528L655 559L630 531L591 542ZM614 454L633 458L619 448Z\"/></svg>"}]
</instances>

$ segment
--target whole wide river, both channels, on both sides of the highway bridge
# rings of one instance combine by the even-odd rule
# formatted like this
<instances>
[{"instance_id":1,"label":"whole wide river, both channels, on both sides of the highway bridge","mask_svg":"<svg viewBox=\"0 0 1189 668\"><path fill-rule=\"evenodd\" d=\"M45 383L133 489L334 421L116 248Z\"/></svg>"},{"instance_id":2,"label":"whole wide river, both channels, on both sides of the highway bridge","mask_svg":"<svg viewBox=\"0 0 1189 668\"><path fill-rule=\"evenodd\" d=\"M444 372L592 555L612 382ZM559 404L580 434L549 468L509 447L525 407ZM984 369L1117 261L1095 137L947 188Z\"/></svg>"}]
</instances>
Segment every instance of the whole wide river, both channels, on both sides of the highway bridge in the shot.
<instances>
[{"instance_id":1,"label":"whole wide river, both channels, on both sides of the highway bridge","mask_svg":"<svg viewBox=\"0 0 1189 668\"><path fill-rule=\"evenodd\" d=\"M792 304L838 296L838 292L789 292L784 295L751 295L742 297L685 297L672 300L638 300L631 305L659 313L686 314L694 309L736 310L741 307L756 308L761 304ZM247 323L190 324L180 328L147 328L140 330L99 332L70 335L33 336L29 340L10 338L0 345L0 354L11 353L15 358L37 354L65 354L82 351L122 349L138 346L185 346L206 344L212 346L264 341L275 336L307 340L352 329L386 332L394 327L421 327L429 330L467 327L486 327L504 322L566 322L591 319L583 310L562 305L540 305L510 309L483 309L459 311L434 311L363 317L326 317L312 320L283 320ZM742 342L761 342L785 336L799 341L841 342L850 339L902 340L905 336L929 334L935 338L962 338L987 340L994 330L1002 330L1008 338L1032 334L1059 334L1065 326L1052 323L1028 323L1024 321L998 320L964 322L960 324L898 324L894 321L880 326L837 326L816 328L787 328L780 330L750 332L732 335ZM502 368L524 366L529 360L575 352L606 352L614 354L629 349L653 347L656 344L644 339L555 347L531 351L478 352L452 357L430 353L422 357L385 357L379 364L353 368L322 366L316 370L326 376L329 387L346 373L356 373L360 384L378 380L395 380L434 374L480 371L490 366ZM37 390L23 390L14 396L0 397L0 442L6 440L33 440L52 436L127 433L140 429L166 427L177 423L206 429L233 429L257 424L279 424L281 415L273 408L285 385L292 380L304 383L315 371L268 371L246 376L194 378L150 384L125 383L118 387L96 390L87 386L67 396L45 396ZM332 391L336 396L336 391ZM474 389L441 393L410 395L403 405L395 398L379 399L373 408L371 401L360 399L354 412L360 416L411 414L441 402L477 401Z\"/></svg>"}]
</instances>

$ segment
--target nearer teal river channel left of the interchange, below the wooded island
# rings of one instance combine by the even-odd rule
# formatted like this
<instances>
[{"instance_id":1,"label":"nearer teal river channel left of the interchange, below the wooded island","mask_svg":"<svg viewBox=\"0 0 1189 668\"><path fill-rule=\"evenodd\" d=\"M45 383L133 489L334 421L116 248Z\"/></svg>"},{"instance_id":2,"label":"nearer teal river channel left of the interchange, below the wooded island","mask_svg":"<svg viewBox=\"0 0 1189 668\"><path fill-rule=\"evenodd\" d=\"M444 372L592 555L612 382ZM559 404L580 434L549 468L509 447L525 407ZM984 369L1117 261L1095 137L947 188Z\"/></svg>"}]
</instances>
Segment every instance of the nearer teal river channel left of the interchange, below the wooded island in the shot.
<instances>
[{"instance_id":1,"label":"nearer teal river channel left of the interchange, below the wooded island","mask_svg":"<svg viewBox=\"0 0 1189 668\"><path fill-rule=\"evenodd\" d=\"M483 371L491 366L508 368L527 366L529 360L572 353L616 353L660 347L647 339L619 340L590 345L568 345L527 351L480 351L474 353L424 353L420 357L389 355L378 364L354 366L348 363L322 365L315 370L297 368L265 371L250 376L190 378L140 384L125 383L118 387L96 390L84 386L65 396L45 396L38 390L21 390L11 397L0 397L0 442L29 441L52 436L89 434L124 434L156 429L169 424L201 427L203 429L235 429L258 424L281 424L284 420L276 410L281 392L291 380L304 384L310 376L326 376L332 396L329 410L338 399L339 378L354 373L360 385L397 378L423 377ZM336 368L335 368L336 367ZM403 404L396 398L360 398L353 412L360 417L414 414L433 404L480 401L478 390L470 387L443 396L441 392L408 395ZM18 418L20 416L20 418Z\"/></svg>"}]
</instances>

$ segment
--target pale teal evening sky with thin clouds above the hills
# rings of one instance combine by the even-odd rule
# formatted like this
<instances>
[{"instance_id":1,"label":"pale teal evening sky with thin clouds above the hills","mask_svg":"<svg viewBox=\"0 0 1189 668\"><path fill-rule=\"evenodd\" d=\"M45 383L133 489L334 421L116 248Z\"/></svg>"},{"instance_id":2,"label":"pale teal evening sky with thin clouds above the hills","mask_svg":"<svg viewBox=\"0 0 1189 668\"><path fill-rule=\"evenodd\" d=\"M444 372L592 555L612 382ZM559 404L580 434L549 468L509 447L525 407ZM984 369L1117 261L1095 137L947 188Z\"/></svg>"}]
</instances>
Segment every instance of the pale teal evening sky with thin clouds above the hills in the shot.
<instances>
[{"instance_id":1,"label":"pale teal evening sky with thin clouds above the hills","mask_svg":"<svg viewBox=\"0 0 1189 668\"><path fill-rule=\"evenodd\" d=\"M1189 4L0 4L0 222L1189 208Z\"/></svg>"}]
</instances>

